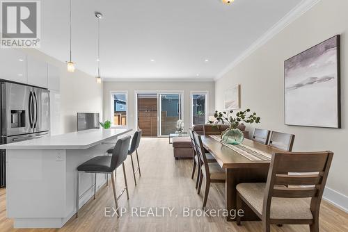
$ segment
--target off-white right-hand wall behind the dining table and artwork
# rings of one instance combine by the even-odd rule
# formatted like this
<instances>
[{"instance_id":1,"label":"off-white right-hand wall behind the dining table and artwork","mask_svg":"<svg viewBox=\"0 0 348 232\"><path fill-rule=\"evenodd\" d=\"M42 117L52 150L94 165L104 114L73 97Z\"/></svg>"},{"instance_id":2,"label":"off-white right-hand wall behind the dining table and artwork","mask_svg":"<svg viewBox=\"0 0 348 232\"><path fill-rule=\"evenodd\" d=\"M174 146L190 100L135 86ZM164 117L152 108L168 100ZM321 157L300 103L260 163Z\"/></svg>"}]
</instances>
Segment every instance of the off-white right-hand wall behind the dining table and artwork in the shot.
<instances>
[{"instance_id":1,"label":"off-white right-hand wall behind the dining table and artwork","mask_svg":"<svg viewBox=\"0 0 348 232\"><path fill-rule=\"evenodd\" d=\"M242 108L261 117L260 128L294 133L294 151L335 152L325 196L348 208L348 1L322 0L216 81L216 108L223 108L223 91L242 85ZM341 35L342 129L284 124L283 62L333 35ZM325 109L323 109L325 110ZM302 117L299 115L299 117ZM333 191L331 191L331 190Z\"/></svg>"}]
</instances>

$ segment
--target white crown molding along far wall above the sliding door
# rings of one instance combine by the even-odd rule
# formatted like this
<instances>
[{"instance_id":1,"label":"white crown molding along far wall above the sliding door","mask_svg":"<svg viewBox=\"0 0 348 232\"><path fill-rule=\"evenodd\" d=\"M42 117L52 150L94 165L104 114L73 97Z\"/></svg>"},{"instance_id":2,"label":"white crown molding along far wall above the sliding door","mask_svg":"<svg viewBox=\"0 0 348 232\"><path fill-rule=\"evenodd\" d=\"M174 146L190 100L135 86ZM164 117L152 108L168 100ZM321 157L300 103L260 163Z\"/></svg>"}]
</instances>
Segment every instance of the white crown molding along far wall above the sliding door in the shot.
<instances>
[{"instance_id":1,"label":"white crown molding along far wall above the sliding door","mask_svg":"<svg viewBox=\"0 0 348 232\"><path fill-rule=\"evenodd\" d=\"M103 82L214 82L214 78L117 78L105 77Z\"/></svg>"}]
</instances>

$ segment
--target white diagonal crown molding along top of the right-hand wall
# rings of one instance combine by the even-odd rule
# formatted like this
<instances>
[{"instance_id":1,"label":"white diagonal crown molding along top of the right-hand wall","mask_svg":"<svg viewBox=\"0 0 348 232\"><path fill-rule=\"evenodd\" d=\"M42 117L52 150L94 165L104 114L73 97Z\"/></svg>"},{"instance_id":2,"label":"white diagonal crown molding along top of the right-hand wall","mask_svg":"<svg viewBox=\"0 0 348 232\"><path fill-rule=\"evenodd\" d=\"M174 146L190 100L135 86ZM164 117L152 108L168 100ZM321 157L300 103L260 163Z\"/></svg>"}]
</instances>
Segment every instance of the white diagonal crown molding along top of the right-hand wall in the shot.
<instances>
[{"instance_id":1,"label":"white diagonal crown molding along top of the right-hand wall","mask_svg":"<svg viewBox=\"0 0 348 232\"><path fill-rule=\"evenodd\" d=\"M301 15L306 13L310 8L313 8L317 3L321 0L302 0L295 8L290 10L282 19L280 19L274 26L269 28L269 30L264 33L258 40L253 42L248 49L246 49L240 56L238 56L235 60L230 63L226 68L224 68L215 78L214 81L219 80L219 78L223 77L223 75L230 72L231 69L236 67L243 60L248 58L254 51L262 47L266 42L274 38L275 35L283 31L284 28L289 26L292 22L298 19Z\"/></svg>"}]
</instances>

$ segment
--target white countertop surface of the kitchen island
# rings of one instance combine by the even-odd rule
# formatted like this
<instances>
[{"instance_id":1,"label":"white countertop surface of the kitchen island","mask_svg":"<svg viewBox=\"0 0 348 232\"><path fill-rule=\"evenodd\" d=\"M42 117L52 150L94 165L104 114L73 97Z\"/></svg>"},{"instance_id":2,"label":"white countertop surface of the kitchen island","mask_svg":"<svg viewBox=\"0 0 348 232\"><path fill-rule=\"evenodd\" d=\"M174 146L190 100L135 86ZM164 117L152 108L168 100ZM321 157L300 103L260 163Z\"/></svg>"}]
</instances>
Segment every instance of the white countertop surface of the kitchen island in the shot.
<instances>
[{"instance_id":1,"label":"white countertop surface of the kitchen island","mask_svg":"<svg viewBox=\"0 0 348 232\"><path fill-rule=\"evenodd\" d=\"M3 144L0 149L88 149L132 131L132 129L90 129Z\"/></svg>"}]
</instances>

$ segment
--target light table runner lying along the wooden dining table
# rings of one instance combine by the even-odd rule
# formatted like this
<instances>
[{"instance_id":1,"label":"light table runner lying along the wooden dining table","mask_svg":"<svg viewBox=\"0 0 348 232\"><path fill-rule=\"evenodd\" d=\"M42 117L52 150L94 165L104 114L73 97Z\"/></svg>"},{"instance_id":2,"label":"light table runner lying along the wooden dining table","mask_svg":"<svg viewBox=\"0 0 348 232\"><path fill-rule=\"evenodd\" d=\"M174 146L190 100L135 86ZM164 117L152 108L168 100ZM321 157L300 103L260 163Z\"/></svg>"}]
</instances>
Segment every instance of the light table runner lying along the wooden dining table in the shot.
<instances>
[{"instance_id":1,"label":"light table runner lying along the wooden dining table","mask_svg":"<svg viewBox=\"0 0 348 232\"><path fill-rule=\"evenodd\" d=\"M264 151L260 151L259 149L255 149L253 147L247 146L246 144L232 145L232 144L227 144L226 142L223 142L220 136L211 135L210 137L218 142L221 142L223 145L232 149L233 151L236 151L238 154L241 154L248 160L251 160L251 161L271 160L271 154L268 154Z\"/></svg>"}]
</instances>

